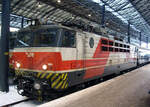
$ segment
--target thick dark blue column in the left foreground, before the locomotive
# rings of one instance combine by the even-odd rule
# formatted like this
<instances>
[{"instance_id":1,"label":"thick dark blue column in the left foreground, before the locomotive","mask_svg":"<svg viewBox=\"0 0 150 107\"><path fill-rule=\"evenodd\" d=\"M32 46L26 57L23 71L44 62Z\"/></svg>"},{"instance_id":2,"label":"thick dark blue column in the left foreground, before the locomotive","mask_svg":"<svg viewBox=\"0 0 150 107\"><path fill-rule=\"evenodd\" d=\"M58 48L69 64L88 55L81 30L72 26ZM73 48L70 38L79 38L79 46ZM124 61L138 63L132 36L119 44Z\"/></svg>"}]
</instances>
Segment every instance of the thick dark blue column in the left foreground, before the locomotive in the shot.
<instances>
[{"instance_id":1,"label":"thick dark blue column in the left foreground, before the locomotive","mask_svg":"<svg viewBox=\"0 0 150 107\"><path fill-rule=\"evenodd\" d=\"M10 35L10 0L2 0L2 28L0 38L0 90L9 91L9 35Z\"/></svg>"}]
</instances>

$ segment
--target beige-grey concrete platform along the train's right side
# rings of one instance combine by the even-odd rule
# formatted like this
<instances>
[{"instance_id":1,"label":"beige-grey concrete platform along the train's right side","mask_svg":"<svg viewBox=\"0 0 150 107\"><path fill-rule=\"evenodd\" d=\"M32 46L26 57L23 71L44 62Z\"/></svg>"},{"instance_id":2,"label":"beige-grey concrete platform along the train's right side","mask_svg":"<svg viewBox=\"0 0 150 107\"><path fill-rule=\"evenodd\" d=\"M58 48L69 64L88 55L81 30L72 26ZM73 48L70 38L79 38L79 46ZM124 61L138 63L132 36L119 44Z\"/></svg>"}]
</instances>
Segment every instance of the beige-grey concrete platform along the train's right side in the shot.
<instances>
[{"instance_id":1,"label":"beige-grey concrete platform along the train's right side","mask_svg":"<svg viewBox=\"0 0 150 107\"><path fill-rule=\"evenodd\" d=\"M150 107L150 64L39 107Z\"/></svg>"}]
</instances>

